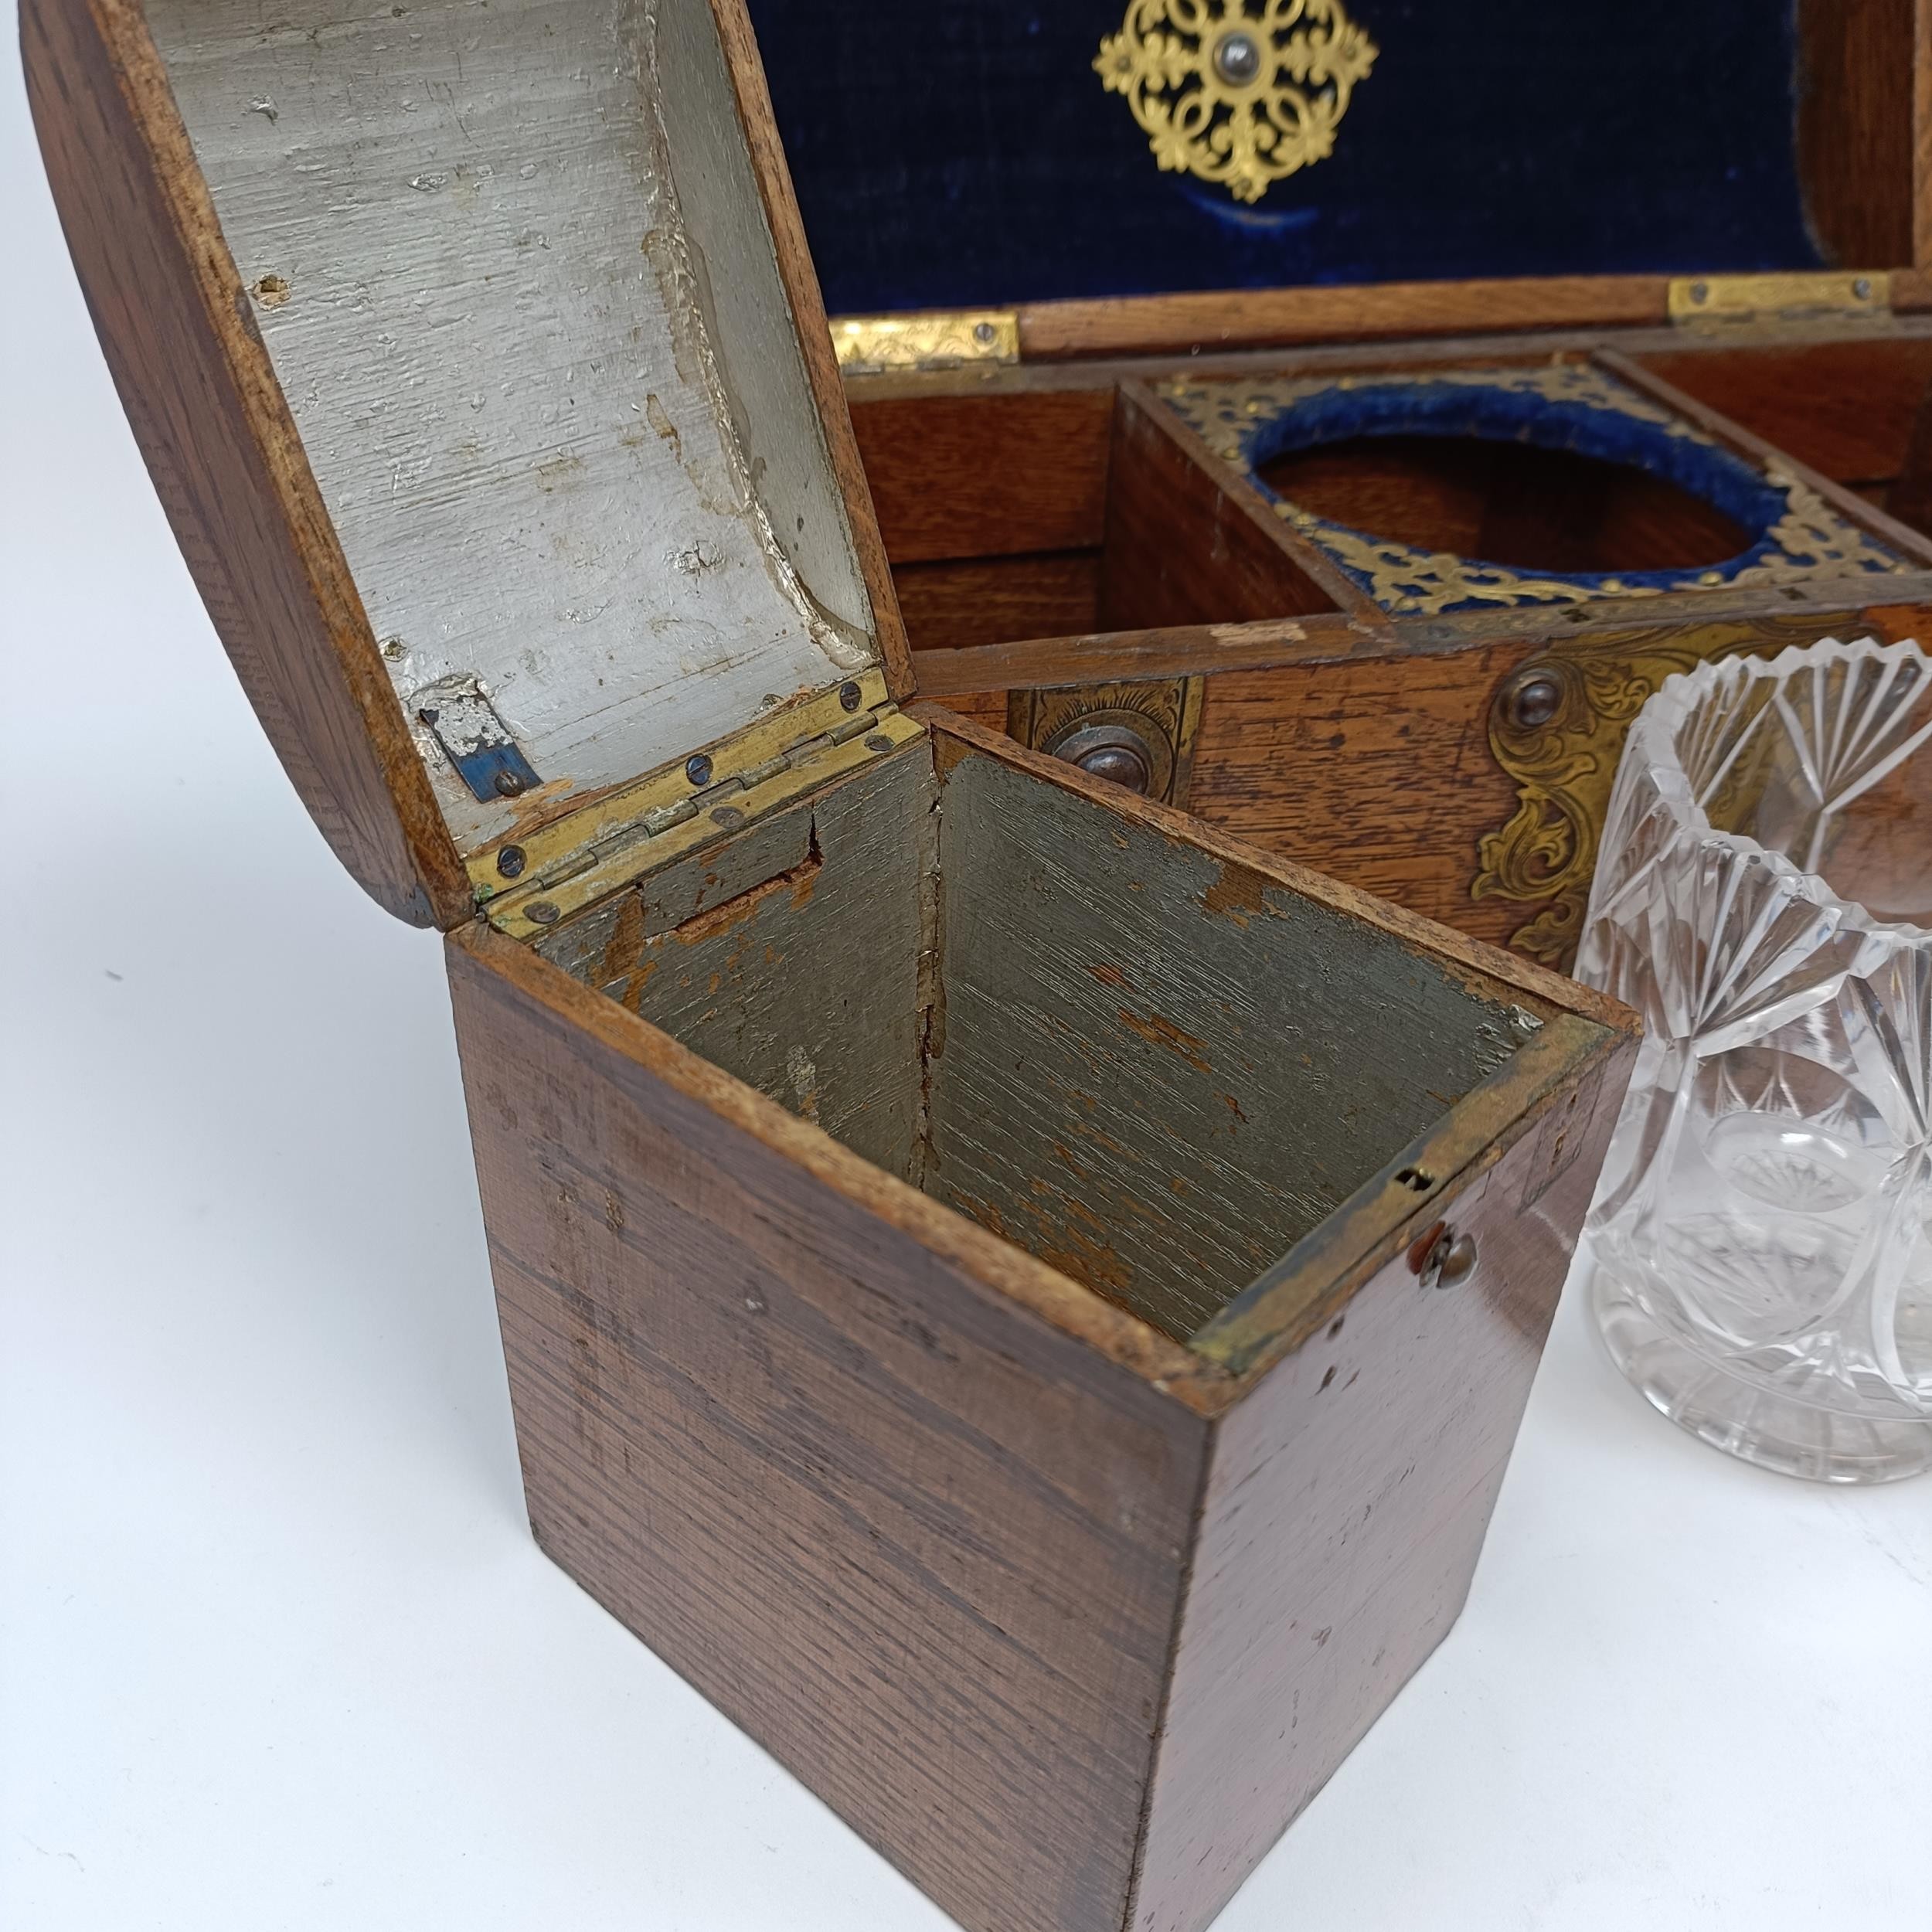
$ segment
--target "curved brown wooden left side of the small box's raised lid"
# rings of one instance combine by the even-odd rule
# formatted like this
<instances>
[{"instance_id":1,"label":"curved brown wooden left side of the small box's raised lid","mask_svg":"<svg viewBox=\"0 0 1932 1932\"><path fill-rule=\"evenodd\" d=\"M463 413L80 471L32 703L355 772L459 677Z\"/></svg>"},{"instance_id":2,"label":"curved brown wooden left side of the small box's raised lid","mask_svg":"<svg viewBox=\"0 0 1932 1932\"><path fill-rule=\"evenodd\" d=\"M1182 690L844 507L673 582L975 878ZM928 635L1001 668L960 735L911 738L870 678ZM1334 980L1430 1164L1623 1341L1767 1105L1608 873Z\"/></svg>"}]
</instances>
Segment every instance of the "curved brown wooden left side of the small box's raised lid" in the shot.
<instances>
[{"instance_id":1,"label":"curved brown wooden left side of the small box's raised lid","mask_svg":"<svg viewBox=\"0 0 1932 1932\"><path fill-rule=\"evenodd\" d=\"M462 918L468 881L139 14L29 0L21 56L108 371L263 730L379 904Z\"/></svg>"}]
</instances>

